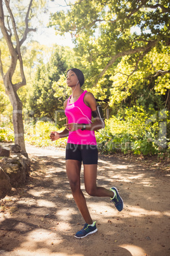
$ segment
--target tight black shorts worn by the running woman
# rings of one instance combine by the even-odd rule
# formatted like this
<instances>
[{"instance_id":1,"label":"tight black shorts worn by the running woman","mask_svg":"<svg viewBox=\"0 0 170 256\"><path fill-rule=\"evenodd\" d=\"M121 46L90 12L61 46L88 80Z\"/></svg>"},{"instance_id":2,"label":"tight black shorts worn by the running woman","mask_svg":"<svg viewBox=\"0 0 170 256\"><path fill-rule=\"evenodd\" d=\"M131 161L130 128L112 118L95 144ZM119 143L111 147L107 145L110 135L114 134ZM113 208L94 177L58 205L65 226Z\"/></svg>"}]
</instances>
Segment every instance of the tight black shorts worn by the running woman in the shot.
<instances>
[{"instance_id":1,"label":"tight black shorts worn by the running woman","mask_svg":"<svg viewBox=\"0 0 170 256\"><path fill-rule=\"evenodd\" d=\"M67 143L65 160L72 159L83 164L98 164L98 148L96 145L76 145Z\"/></svg>"}]
</instances>

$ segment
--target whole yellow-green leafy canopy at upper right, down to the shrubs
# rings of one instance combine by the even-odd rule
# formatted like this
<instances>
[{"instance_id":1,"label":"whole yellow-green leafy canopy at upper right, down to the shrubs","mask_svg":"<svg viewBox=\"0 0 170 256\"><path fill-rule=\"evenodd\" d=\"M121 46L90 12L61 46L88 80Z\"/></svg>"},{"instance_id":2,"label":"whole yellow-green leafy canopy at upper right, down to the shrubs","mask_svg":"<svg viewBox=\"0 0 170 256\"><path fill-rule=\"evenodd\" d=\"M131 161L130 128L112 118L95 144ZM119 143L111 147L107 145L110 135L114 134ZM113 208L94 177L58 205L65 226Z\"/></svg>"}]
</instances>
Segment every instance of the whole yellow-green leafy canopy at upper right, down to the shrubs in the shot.
<instances>
[{"instance_id":1,"label":"whole yellow-green leafy canopy at upper right, down to the shrubs","mask_svg":"<svg viewBox=\"0 0 170 256\"><path fill-rule=\"evenodd\" d=\"M112 114L142 102L148 109L150 101L170 110L169 7L164 0L77 0L51 14L49 25L70 32L85 88L110 99Z\"/></svg>"}]
</instances>

